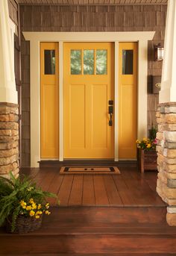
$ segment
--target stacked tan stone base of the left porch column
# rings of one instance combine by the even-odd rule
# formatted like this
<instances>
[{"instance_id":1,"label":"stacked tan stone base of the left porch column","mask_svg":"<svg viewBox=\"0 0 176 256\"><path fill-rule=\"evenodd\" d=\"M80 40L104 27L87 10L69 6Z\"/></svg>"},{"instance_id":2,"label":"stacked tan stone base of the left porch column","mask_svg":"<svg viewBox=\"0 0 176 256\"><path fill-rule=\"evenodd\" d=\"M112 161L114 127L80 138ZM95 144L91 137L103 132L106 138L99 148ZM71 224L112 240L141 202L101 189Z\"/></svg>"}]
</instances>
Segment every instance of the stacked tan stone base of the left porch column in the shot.
<instances>
[{"instance_id":1,"label":"stacked tan stone base of the left porch column","mask_svg":"<svg viewBox=\"0 0 176 256\"><path fill-rule=\"evenodd\" d=\"M18 105L0 103L0 175L19 175Z\"/></svg>"}]
</instances>

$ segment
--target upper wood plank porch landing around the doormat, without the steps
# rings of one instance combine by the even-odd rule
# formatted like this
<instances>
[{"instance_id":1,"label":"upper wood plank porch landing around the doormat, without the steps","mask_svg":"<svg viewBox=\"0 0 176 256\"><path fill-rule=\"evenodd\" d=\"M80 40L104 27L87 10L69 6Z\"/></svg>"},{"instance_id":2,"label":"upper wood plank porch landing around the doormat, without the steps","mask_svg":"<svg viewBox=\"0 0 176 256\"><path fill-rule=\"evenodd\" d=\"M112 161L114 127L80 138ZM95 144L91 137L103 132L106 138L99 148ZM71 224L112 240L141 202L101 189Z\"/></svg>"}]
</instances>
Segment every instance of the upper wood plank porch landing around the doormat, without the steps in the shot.
<instances>
[{"instance_id":1,"label":"upper wood plank porch landing around the doormat, without the steps","mask_svg":"<svg viewBox=\"0 0 176 256\"><path fill-rule=\"evenodd\" d=\"M136 166L119 166L121 175L60 175L58 167L23 168L43 190L56 193L60 206L165 206L157 196L157 172L143 175ZM49 200L56 205L55 199Z\"/></svg>"}]
</instances>

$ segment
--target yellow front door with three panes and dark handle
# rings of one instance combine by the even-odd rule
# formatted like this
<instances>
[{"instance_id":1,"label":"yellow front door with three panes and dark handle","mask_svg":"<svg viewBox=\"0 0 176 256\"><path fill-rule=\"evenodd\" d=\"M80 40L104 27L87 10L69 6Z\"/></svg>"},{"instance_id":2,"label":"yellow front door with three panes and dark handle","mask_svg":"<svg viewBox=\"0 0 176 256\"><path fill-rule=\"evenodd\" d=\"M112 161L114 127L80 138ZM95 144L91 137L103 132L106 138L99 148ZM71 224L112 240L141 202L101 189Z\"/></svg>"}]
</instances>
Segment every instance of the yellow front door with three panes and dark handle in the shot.
<instances>
[{"instance_id":1,"label":"yellow front door with three panes and dark handle","mask_svg":"<svg viewBox=\"0 0 176 256\"><path fill-rule=\"evenodd\" d=\"M114 157L113 56L113 43L64 43L65 158Z\"/></svg>"}]
</instances>

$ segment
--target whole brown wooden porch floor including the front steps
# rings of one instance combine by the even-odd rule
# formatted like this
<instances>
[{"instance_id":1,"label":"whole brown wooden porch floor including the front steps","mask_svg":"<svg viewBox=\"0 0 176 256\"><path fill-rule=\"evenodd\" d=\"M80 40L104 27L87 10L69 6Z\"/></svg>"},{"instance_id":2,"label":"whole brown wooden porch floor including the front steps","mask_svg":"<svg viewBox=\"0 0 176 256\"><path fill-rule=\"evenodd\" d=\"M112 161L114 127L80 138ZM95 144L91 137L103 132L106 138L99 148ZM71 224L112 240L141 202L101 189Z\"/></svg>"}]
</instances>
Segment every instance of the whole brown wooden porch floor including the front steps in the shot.
<instances>
[{"instance_id":1,"label":"whole brown wooden porch floor including the front steps","mask_svg":"<svg viewBox=\"0 0 176 256\"><path fill-rule=\"evenodd\" d=\"M43 190L57 193L61 207L51 207L51 215L32 233L6 234L0 228L0 255L176 255L176 228L166 223L166 204L156 193L157 172L142 175L134 165L118 167L121 175L21 169Z\"/></svg>"}]
</instances>

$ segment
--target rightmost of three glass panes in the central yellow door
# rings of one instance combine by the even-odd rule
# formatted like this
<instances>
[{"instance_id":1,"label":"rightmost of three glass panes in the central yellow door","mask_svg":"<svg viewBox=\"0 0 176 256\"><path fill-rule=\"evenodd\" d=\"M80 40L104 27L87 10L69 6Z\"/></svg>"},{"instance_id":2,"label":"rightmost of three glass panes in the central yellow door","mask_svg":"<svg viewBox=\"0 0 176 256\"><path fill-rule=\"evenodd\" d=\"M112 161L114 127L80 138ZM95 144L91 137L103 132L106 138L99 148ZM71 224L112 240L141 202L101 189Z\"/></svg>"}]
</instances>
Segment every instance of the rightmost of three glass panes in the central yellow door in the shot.
<instances>
[{"instance_id":1,"label":"rightmost of three glass panes in the central yellow door","mask_svg":"<svg viewBox=\"0 0 176 256\"><path fill-rule=\"evenodd\" d=\"M107 50L96 50L96 75L107 74Z\"/></svg>"}]
</instances>

